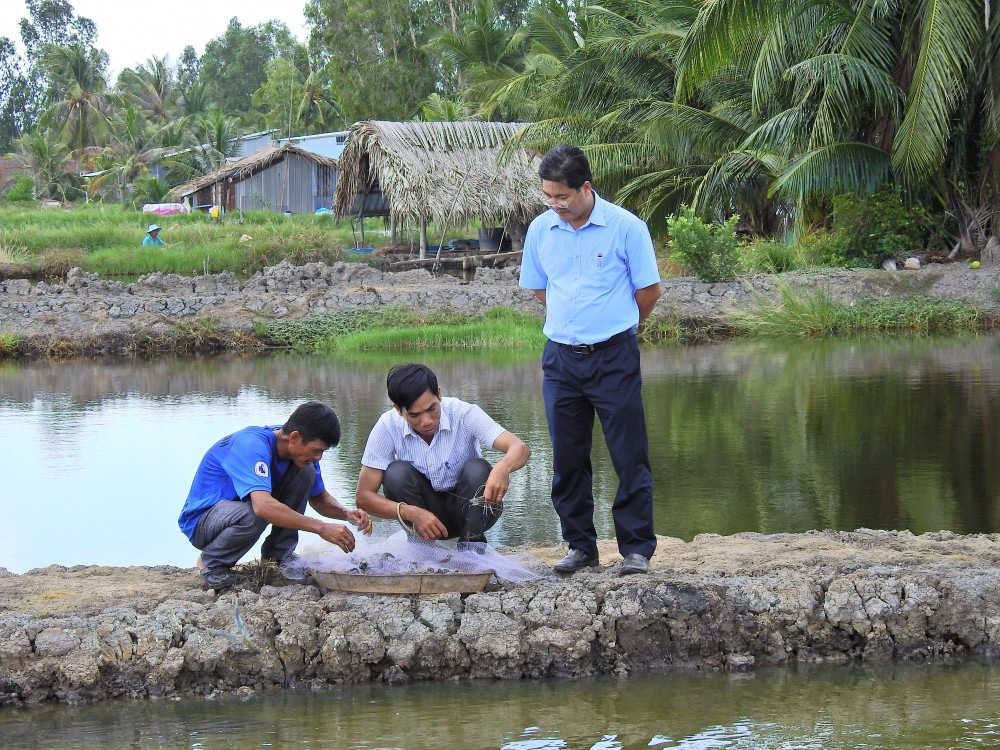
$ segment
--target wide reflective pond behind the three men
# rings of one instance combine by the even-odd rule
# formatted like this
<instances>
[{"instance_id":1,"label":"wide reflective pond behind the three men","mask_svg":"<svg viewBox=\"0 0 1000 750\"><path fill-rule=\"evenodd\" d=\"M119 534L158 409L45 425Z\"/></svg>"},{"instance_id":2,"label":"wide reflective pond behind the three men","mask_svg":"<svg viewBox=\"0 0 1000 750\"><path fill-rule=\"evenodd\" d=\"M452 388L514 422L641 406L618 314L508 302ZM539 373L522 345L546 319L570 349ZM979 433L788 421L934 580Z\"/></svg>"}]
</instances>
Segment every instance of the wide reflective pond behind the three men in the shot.
<instances>
[{"instance_id":1,"label":"wide reflective pond behind the three men","mask_svg":"<svg viewBox=\"0 0 1000 750\"><path fill-rule=\"evenodd\" d=\"M341 417L343 442L322 468L353 503L365 440L388 408L385 374L403 359L0 364L0 566L192 565L176 519L205 450L283 422L306 399ZM559 541L538 357L422 361L446 394L481 404L532 448L491 541ZM659 534L1000 530L1000 338L648 349L643 373ZM601 439L594 472L597 528L610 538L617 480Z\"/></svg>"}]
</instances>

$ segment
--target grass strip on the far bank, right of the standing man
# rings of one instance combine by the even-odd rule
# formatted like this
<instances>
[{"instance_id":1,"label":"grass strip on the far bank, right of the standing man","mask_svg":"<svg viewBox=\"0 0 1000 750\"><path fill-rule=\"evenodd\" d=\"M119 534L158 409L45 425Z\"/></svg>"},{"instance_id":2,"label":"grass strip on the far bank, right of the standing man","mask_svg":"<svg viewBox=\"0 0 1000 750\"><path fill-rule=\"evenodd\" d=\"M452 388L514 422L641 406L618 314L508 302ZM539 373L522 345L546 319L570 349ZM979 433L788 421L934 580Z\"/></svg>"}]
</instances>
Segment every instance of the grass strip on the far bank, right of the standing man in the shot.
<instances>
[{"instance_id":1,"label":"grass strip on the far bank, right of the standing man","mask_svg":"<svg viewBox=\"0 0 1000 750\"><path fill-rule=\"evenodd\" d=\"M967 300L913 295L895 299L864 298L854 304L833 300L824 292L798 294L779 288L777 302L759 298L749 309L730 314L738 335L750 337L851 336L909 333L952 334L976 331L985 312Z\"/></svg>"}]
</instances>

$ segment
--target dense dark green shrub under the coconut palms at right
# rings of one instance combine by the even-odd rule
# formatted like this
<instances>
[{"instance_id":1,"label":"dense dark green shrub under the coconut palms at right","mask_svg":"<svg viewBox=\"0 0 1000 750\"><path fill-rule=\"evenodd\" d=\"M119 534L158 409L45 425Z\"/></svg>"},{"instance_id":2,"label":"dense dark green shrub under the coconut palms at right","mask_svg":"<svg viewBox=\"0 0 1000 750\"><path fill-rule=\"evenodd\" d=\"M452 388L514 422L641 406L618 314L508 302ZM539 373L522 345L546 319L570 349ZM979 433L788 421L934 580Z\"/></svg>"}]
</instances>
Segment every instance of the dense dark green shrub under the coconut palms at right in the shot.
<instances>
[{"instance_id":1,"label":"dense dark green shrub under the coconut palms at right","mask_svg":"<svg viewBox=\"0 0 1000 750\"><path fill-rule=\"evenodd\" d=\"M923 208L907 206L898 188L873 195L833 198L833 236L828 265L878 267L886 258L923 248L930 217Z\"/></svg>"}]
</instances>

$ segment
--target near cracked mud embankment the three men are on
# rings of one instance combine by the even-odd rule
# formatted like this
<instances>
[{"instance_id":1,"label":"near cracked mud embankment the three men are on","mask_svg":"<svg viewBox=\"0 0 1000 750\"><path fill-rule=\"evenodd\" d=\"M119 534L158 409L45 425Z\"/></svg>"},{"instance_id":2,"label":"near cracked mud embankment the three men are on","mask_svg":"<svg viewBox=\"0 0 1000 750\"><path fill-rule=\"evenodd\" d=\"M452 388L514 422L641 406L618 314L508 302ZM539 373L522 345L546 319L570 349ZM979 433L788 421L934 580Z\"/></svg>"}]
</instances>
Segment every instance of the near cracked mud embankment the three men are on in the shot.
<instances>
[{"instance_id":1,"label":"near cracked mud embankment the three men are on","mask_svg":"<svg viewBox=\"0 0 1000 750\"><path fill-rule=\"evenodd\" d=\"M1000 535L661 538L651 573L628 578L616 575L613 543L601 544L602 568L468 596L260 580L216 595L194 569L173 567L0 575L0 705L990 658L1000 639ZM539 564L562 554L521 551Z\"/></svg>"}]
</instances>

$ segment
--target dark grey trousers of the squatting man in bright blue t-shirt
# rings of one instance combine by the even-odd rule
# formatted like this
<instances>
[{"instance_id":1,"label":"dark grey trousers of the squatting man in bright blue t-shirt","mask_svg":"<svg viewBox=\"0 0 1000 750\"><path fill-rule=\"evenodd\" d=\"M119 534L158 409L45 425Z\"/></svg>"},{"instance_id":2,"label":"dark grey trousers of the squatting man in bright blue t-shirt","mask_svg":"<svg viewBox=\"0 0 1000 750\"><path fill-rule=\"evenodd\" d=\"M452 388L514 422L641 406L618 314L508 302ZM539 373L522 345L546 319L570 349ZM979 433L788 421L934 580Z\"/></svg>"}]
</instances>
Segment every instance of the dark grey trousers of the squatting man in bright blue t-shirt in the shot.
<instances>
[{"instance_id":1,"label":"dark grey trousers of the squatting man in bright blue t-shirt","mask_svg":"<svg viewBox=\"0 0 1000 750\"><path fill-rule=\"evenodd\" d=\"M300 469L290 463L288 471L271 494L274 499L297 513L305 513L309 491L316 481L316 471L310 464ZM246 500L220 500L198 520L192 544L201 550L201 559L209 570L228 570L260 539L268 522L253 512L253 503ZM263 560L281 560L295 549L299 532L275 526L271 529L260 556Z\"/></svg>"}]
</instances>

